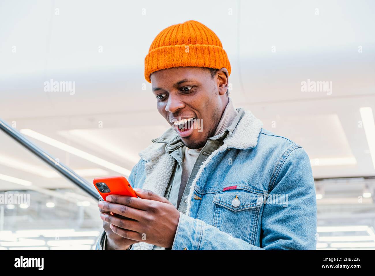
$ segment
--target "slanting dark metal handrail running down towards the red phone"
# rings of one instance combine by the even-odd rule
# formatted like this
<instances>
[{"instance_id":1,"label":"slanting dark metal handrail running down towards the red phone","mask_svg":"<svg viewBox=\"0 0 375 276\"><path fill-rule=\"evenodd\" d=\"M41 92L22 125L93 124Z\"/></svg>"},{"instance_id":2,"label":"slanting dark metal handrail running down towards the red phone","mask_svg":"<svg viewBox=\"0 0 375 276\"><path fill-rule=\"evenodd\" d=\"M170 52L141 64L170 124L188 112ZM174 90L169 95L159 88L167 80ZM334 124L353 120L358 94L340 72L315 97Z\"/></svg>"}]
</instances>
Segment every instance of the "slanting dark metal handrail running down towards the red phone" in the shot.
<instances>
[{"instance_id":1,"label":"slanting dark metal handrail running down towards the red phone","mask_svg":"<svg viewBox=\"0 0 375 276\"><path fill-rule=\"evenodd\" d=\"M73 170L69 169L69 167L65 166L64 164L60 162L56 162L55 158L53 158L51 155L43 151L43 149L40 149L33 142L28 140L24 135L22 135L20 132L18 132L14 128L10 127L5 121L1 119L0 119L0 129L4 131L6 134L8 134L12 139L16 140L18 143L23 145L33 154L35 154L37 157L42 159L45 163L51 166L54 170L57 170L59 173L65 176L65 178L69 179L75 185L83 189L86 193L92 196L95 200L98 200L100 198L99 193L95 190L92 184L87 182L84 178L79 176Z\"/></svg>"}]
</instances>

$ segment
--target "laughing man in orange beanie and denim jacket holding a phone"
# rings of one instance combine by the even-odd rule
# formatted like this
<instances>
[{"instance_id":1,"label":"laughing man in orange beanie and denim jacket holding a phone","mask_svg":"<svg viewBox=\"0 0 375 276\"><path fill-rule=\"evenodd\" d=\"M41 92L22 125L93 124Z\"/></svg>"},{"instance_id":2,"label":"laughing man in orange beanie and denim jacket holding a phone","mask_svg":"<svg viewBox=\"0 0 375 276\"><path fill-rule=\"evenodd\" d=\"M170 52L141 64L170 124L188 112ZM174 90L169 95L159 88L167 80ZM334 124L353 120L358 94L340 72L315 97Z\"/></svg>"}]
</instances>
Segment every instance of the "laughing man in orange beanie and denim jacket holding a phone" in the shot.
<instances>
[{"instance_id":1,"label":"laughing man in orange beanie and denim jacket holding a phone","mask_svg":"<svg viewBox=\"0 0 375 276\"><path fill-rule=\"evenodd\" d=\"M138 198L98 203L105 231L97 250L316 249L308 155L233 107L230 73L219 38L203 24L156 36L145 78L171 128L130 173Z\"/></svg>"}]
</instances>

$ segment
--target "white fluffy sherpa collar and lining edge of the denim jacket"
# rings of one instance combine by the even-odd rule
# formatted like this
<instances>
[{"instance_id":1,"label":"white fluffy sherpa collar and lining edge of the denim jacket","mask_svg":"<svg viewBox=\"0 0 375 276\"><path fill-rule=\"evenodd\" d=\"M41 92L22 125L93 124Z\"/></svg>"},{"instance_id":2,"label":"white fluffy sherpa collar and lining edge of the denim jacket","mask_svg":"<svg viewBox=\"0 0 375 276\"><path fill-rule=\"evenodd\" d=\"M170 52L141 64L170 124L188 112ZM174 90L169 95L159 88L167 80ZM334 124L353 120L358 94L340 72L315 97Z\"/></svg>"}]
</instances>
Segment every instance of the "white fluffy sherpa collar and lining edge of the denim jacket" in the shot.
<instances>
[{"instance_id":1,"label":"white fluffy sherpa collar and lining edge of the denim jacket","mask_svg":"<svg viewBox=\"0 0 375 276\"><path fill-rule=\"evenodd\" d=\"M223 151L226 148L249 149L257 146L258 136L262 129L263 122L256 118L249 110L244 111L241 108L237 111L239 114L236 116L231 126L226 129L226 131L229 131L230 135L223 140L223 145L213 151L202 163L202 165L199 167L198 172L196 173L195 178L193 179L192 185L189 187L190 192L187 199L188 204L186 208L187 215L189 215L190 202L195 184L199 179L199 176L201 175L204 167L218 152ZM233 131L231 131L231 129L233 129ZM160 137L158 138L159 140L153 139L154 143L139 153L139 156L146 161L146 177L142 189L151 190L160 196L165 195L166 188L168 187L169 180L174 169L174 158L165 151L166 144L168 144L171 140L178 139L178 134L175 133L174 135L173 132L175 131L172 128L169 128L163 134L163 136L172 137L171 139L162 139L161 141ZM133 249L152 250L153 246L153 244L140 242L133 244Z\"/></svg>"}]
</instances>

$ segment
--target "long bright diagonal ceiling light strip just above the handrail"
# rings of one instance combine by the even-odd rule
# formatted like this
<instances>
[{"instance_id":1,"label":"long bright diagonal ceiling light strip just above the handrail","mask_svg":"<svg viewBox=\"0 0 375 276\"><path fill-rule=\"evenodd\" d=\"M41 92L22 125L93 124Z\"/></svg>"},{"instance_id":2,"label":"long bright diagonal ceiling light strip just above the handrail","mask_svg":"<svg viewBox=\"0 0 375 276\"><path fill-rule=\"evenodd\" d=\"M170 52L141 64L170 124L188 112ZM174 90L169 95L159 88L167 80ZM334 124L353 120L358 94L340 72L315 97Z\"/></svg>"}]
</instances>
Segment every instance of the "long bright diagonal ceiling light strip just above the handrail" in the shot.
<instances>
[{"instance_id":1,"label":"long bright diagonal ceiling light strip just above the handrail","mask_svg":"<svg viewBox=\"0 0 375 276\"><path fill-rule=\"evenodd\" d=\"M31 138L34 138L36 140L39 140L43 143L46 143L48 145L54 146L58 149L61 149L63 151L69 152L71 154L74 154L78 157L84 158L92 163L98 164L102 167L105 167L107 169L113 170L115 172L119 172L125 176L130 175L130 170L125 169L123 167L117 166L116 164L113 164L111 162L108 162L102 158L96 157L95 155L89 154L87 152L81 151L80 149L74 148L72 146L66 145L65 143L59 142L55 139L52 139L48 136L45 136L43 134L37 133L36 131L30 130L30 129L21 129L20 132L22 134L25 134Z\"/></svg>"}]
</instances>

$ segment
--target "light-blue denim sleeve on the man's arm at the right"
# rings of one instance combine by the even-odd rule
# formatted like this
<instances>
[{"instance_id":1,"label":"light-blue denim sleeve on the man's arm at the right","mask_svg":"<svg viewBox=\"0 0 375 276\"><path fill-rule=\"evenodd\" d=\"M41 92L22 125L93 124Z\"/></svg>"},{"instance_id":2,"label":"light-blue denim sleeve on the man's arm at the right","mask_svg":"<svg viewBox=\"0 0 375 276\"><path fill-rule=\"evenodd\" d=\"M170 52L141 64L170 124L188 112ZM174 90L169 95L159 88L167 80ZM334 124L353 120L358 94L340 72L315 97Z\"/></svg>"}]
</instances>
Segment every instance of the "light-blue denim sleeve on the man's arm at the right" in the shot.
<instances>
[{"instance_id":1,"label":"light-blue denim sleeve on the man's arm at the right","mask_svg":"<svg viewBox=\"0 0 375 276\"><path fill-rule=\"evenodd\" d=\"M269 194L285 194L288 201L264 204L260 247L180 212L172 250L315 250L317 202L309 157L300 147L283 157L272 176L274 183L270 181Z\"/></svg>"}]
</instances>

